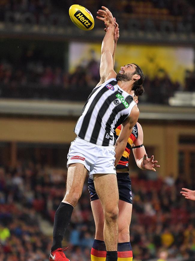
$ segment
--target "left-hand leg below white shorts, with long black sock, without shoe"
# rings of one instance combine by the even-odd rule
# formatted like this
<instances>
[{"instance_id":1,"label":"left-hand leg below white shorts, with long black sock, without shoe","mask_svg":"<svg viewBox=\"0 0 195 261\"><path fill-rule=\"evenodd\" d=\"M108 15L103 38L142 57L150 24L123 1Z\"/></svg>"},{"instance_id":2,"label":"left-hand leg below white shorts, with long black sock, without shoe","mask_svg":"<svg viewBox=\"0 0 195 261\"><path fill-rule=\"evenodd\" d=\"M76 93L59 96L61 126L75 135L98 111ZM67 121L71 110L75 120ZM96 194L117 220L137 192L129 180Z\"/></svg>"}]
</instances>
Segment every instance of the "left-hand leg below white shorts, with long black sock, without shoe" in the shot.
<instances>
[{"instance_id":1,"label":"left-hand leg below white shorts, with long black sock, without shoe","mask_svg":"<svg viewBox=\"0 0 195 261\"><path fill-rule=\"evenodd\" d=\"M81 196L87 172L85 166L80 163L71 164L68 168L66 194L55 212L52 251L61 248L61 242L70 222L73 207L76 206Z\"/></svg>"}]
</instances>

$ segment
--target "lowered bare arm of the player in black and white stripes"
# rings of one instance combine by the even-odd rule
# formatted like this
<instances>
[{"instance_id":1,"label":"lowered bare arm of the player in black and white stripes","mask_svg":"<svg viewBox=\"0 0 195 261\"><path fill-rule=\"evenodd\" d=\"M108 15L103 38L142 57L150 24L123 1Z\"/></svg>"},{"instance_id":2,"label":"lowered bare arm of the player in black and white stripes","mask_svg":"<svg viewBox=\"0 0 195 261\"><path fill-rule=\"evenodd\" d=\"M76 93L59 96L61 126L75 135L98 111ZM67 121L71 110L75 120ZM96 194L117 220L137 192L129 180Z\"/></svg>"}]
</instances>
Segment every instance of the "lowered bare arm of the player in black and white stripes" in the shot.
<instances>
[{"instance_id":1,"label":"lowered bare arm of the player in black and white stripes","mask_svg":"<svg viewBox=\"0 0 195 261\"><path fill-rule=\"evenodd\" d=\"M139 109L137 108L137 105L135 105L131 110L130 116L127 118L126 121L122 123L122 130L115 144L115 166L118 164L120 158L122 157L122 154L127 146L128 138L131 135L132 129L136 124L139 115Z\"/></svg>"}]
</instances>

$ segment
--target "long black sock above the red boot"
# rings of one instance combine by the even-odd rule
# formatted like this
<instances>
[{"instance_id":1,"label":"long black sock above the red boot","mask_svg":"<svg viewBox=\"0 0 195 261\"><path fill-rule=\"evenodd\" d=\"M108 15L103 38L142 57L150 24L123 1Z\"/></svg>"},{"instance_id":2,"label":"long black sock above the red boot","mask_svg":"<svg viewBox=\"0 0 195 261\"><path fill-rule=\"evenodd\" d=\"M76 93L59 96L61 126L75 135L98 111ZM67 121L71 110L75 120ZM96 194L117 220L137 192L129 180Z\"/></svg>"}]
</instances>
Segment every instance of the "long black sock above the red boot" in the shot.
<instances>
[{"instance_id":1,"label":"long black sock above the red boot","mask_svg":"<svg viewBox=\"0 0 195 261\"><path fill-rule=\"evenodd\" d=\"M70 222L73 212L73 206L61 202L55 212L54 225L53 225L53 245L51 251L61 247L61 242L64 238L65 231Z\"/></svg>"}]
</instances>

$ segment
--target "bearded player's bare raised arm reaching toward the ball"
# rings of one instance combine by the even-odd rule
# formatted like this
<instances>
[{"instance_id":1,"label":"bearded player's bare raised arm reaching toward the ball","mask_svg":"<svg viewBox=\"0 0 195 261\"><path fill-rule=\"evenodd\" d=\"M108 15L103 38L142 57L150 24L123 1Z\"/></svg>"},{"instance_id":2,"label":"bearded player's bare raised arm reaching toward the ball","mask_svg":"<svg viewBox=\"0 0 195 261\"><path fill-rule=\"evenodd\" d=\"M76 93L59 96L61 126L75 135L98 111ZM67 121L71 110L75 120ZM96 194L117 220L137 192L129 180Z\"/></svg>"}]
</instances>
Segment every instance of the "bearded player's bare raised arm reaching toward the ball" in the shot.
<instances>
[{"instance_id":1,"label":"bearded player's bare raised arm reaching toward the ball","mask_svg":"<svg viewBox=\"0 0 195 261\"><path fill-rule=\"evenodd\" d=\"M115 48L115 21L112 13L106 8L102 7L104 10L99 10L97 16L99 20L103 20L107 25L106 34L104 36L102 46L101 46L101 62L100 62L100 77L102 79L109 80L110 78L115 78L116 73L113 68L113 53ZM98 83L99 85L100 83Z\"/></svg>"}]
</instances>

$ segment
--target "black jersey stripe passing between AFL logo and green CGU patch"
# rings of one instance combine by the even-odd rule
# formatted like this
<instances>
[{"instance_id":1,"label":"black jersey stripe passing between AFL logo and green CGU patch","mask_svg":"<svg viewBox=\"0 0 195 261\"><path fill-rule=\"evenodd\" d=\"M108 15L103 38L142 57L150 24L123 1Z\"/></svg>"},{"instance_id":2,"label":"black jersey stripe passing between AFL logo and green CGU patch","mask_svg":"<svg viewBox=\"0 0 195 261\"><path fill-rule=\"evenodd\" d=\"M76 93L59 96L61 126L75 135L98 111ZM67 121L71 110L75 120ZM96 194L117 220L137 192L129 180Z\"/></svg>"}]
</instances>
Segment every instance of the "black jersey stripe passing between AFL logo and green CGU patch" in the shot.
<instances>
[{"instance_id":1,"label":"black jersey stripe passing between AFL logo and green CGU patch","mask_svg":"<svg viewBox=\"0 0 195 261\"><path fill-rule=\"evenodd\" d=\"M105 113L107 112L107 109L109 108L110 104L116 100L116 94L118 94L118 90L116 90L114 93L112 93L110 96L107 97L107 99L104 101L104 103L101 105L101 108L98 111L98 115L95 121L95 125L93 127L93 131L91 134L90 142L94 143L94 141L98 140L98 136L101 130L101 121L104 117Z\"/></svg>"}]
</instances>

